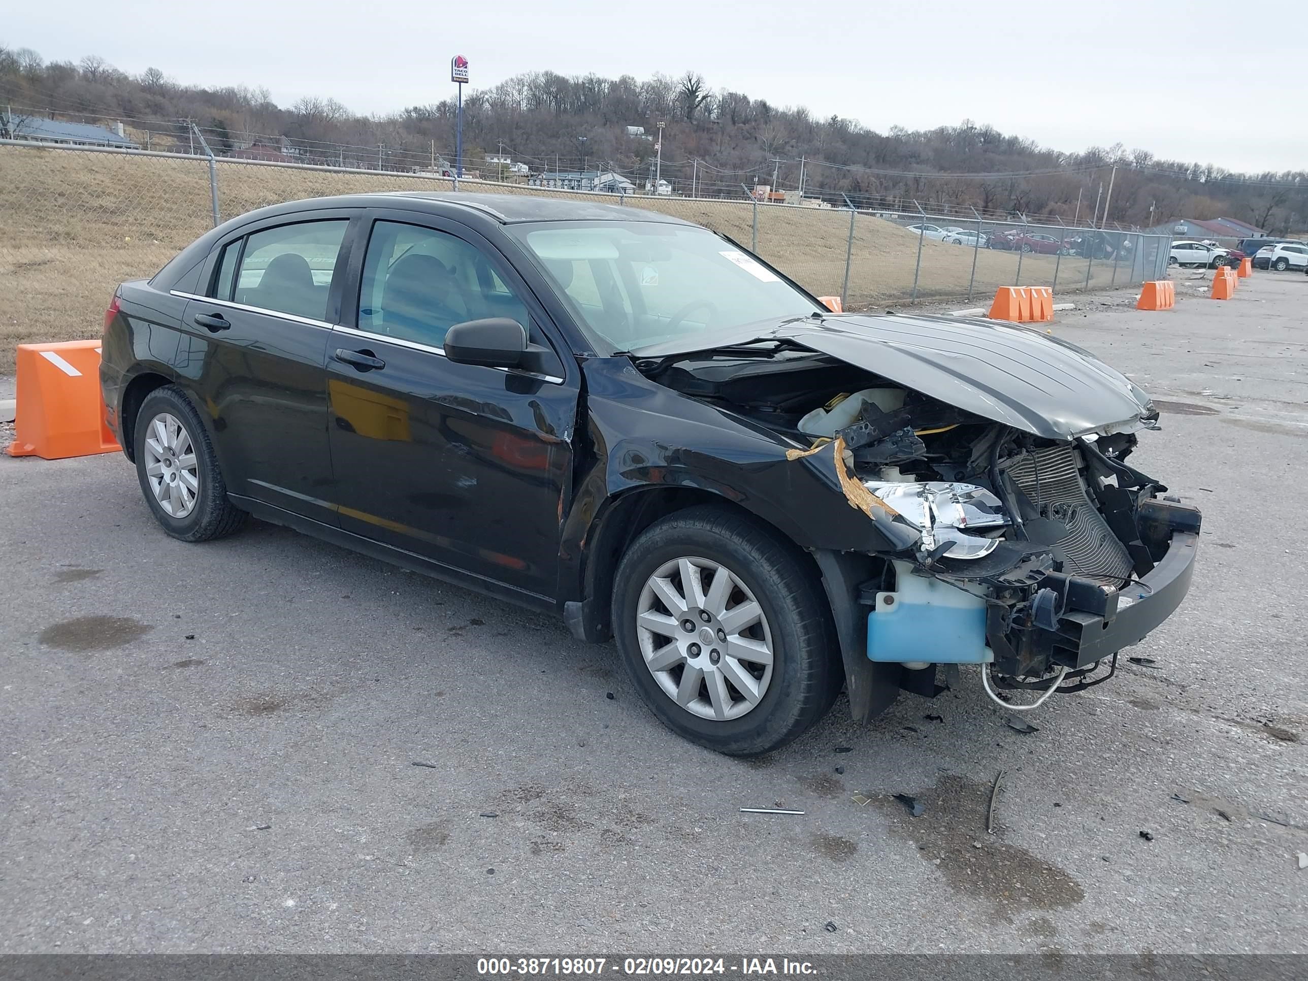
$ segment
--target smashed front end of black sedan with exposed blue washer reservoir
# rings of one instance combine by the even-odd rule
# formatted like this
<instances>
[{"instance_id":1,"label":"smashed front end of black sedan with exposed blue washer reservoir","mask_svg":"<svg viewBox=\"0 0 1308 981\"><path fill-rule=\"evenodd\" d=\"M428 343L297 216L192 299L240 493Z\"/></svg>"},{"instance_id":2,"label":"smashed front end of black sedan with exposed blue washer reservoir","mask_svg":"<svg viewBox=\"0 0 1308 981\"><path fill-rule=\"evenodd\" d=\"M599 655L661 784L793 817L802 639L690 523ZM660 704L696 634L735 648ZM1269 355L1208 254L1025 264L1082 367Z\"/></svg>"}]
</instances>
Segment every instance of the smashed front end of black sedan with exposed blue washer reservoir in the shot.
<instances>
[{"instance_id":1,"label":"smashed front end of black sedan with exposed blue washer reservoir","mask_svg":"<svg viewBox=\"0 0 1308 981\"><path fill-rule=\"evenodd\" d=\"M1114 405L1117 421L1079 420L1073 432L1048 412L990 411L988 392L950 404L943 385L927 392L794 348L645 366L791 441L787 459L833 477L892 544L872 555L814 549L852 709L865 718L900 689L942 691L940 666L982 666L988 692L991 681L1044 692L1097 684L1117 651L1185 596L1199 513L1126 463L1156 412L1121 375L1076 356L1091 365L1084 377L1120 379L1109 394L1134 417L1121 421Z\"/></svg>"}]
</instances>

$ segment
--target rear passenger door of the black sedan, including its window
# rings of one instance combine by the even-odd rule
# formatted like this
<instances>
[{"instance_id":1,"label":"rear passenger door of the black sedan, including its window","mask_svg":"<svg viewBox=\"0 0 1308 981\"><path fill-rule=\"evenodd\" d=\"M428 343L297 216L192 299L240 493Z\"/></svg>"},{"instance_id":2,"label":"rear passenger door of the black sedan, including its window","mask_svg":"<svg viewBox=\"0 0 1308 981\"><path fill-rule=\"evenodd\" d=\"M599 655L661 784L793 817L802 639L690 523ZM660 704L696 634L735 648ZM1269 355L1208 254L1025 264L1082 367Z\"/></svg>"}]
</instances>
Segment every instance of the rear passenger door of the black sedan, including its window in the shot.
<instances>
[{"instance_id":1,"label":"rear passenger door of the black sedan, including its window","mask_svg":"<svg viewBox=\"0 0 1308 981\"><path fill-rule=\"evenodd\" d=\"M328 525L327 343L362 209L300 212L217 245L183 314L178 371L211 420L228 490Z\"/></svg>"}]
</instances>

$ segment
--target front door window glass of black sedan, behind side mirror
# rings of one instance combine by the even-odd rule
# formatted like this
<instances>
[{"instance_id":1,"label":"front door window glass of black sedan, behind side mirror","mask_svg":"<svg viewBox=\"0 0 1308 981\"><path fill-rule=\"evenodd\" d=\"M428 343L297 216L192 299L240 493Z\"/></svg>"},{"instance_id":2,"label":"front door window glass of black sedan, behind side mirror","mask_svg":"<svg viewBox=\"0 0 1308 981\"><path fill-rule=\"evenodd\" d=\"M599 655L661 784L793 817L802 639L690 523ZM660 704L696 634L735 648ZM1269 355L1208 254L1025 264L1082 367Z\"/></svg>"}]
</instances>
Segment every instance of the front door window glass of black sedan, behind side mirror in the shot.
<instances>
[{"instance_id":1,"label":"front door window glass of black sedan, behind side mirror","mask_svg":"<svg viewBox=\"0 0 1308 981\"><path fill-rule=\"evenodd\" d=\"M360 330L439 348L453 324L487 317L508 317L536 334L527 307L476 246L417 225L373 225L360 284Z\"/></svg>"}]
</instances>

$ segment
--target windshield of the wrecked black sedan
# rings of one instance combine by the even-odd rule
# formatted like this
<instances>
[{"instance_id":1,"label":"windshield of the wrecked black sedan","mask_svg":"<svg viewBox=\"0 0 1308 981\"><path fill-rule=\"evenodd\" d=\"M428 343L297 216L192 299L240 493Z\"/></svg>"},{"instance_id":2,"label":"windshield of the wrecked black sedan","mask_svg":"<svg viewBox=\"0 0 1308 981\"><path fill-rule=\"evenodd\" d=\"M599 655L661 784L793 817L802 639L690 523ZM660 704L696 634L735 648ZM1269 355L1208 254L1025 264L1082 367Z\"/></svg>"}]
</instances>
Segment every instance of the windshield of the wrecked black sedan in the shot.
<instances>
[{"instance_id":1,"label":"windshield of the wrecked black sedan","mask_svg":"<svg viewBox=\"0 0 1308 981\"><path fill-rule=\"evenodd\" d=\"M599 347L632 351L825 313L748 252L691 225L510 225Z\"/></svg>"}]
</instances>

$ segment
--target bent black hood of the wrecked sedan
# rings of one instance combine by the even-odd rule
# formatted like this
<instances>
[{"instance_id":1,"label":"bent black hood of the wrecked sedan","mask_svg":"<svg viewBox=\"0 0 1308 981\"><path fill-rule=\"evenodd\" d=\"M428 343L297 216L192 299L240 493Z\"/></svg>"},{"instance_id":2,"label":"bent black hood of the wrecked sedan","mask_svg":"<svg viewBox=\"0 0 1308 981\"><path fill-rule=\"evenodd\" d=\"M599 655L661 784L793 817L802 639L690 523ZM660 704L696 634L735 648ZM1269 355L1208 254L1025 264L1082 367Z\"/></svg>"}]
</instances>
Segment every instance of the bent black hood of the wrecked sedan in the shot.
<instances>
[{"instance_id":1,"label":"bent black hood of the wrecked sedan","mask_svg":"<svg viewBox=\"0 0 1308 981\"><path fill-rule=\"evenodd\" d=\"M1088 351L1003 320L825 317L766 331L1048 439L1137 429L1148 395Z\"/></svg>"}]
</instances>

